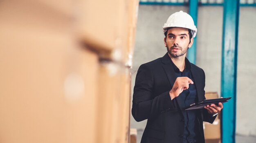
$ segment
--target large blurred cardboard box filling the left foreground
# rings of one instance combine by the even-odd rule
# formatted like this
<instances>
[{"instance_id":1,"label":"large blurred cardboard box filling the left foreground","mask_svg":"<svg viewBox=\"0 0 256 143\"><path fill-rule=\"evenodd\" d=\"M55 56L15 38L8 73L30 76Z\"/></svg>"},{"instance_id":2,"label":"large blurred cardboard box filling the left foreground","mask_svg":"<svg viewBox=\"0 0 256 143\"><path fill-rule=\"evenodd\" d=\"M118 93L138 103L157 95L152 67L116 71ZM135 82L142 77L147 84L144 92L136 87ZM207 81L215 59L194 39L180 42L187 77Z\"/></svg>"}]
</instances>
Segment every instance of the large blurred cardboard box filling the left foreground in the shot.
<instances>
[{"instance_id":1,"label":"large blurred cardboard box filling the left foreground","mask_svg":"<svg viewBox=\"0 0 256 143\"><path fill-rule=\"evenodd\" d=\"M1 143L95 143L98 55L65 2L0 2Z\"/></svg>"}]
</instances>

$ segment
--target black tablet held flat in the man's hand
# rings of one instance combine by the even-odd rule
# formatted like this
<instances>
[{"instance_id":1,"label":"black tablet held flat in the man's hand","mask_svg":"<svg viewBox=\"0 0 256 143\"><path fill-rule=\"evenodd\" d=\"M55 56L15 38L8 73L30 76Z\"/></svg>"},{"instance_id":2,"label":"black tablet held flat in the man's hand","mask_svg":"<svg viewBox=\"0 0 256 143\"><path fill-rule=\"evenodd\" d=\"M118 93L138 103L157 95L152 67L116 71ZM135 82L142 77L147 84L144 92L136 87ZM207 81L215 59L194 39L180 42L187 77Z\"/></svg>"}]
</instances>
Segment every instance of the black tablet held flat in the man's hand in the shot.
<instances>
[{"instance_id":1,"label":"black tablet held flat in the man's hand","mask_svg":"<svg viewBox=\"0 0 256 143\"><path fill-rule=\"evenodd\" d=\"M191 104L191 105L187 106L186 108L184 108L184 110L201 109L201 108L204 108L204 106L207 106L209 104L218 104L219 102L221 102L221 103L227 102L229 99L231 99L231 97L206 99L206 100Z\"/></svg>"}]
</instances>

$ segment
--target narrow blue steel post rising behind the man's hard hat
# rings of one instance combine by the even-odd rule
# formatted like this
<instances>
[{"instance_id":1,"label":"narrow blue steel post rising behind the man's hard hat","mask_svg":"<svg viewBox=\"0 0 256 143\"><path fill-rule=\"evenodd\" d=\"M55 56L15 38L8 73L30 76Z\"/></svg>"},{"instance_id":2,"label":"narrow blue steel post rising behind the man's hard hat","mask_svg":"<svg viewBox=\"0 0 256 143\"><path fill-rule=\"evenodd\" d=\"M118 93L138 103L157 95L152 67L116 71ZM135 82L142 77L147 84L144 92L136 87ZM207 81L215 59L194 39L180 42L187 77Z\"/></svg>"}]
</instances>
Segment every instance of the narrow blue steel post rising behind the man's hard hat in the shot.
<instances>
[{"instance_id":1,"label":"narrow blue steel post rising behind the man's hard hat","mask_svg":"<svg viewBox=\"0 0 256 143\"><path fill-rule=\"evenodd\" d=\"M198 20L198 0L189 0L189 14L194 20L195 26L197 26ZM193 45L188 50L189 61L193 64L196 62L196 37L194 38Z\"/></svg>"}]
</instances>

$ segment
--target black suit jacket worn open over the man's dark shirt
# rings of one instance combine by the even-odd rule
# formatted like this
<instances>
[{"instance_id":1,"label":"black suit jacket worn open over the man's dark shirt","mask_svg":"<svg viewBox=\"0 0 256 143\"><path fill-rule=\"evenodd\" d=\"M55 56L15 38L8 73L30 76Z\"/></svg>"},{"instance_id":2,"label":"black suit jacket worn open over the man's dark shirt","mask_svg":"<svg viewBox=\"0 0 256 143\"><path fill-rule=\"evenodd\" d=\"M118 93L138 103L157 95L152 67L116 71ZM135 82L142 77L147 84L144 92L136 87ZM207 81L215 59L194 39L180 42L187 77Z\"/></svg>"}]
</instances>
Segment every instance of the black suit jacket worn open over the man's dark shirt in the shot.
<instances>
[{"instance_id":1,"label":"black suit jacket worn open over the man's dark shirt","mask_svg":"<svg viewBox=\"0 0 256 143\"><path fill-rule=\"evenodd\" d=\"M191 63L191 74L198 100L204 100L204 71ZM141 65L138 69L132 100L132 116L136 121L148 119L141 143L182 143L184 117L178 102L170 98L169 91L176 80L171 58L166 53L162 58ZM199 142L204 143L202 122L212 123L206 109L199 109Z\"/></svg>"}]
</instances>

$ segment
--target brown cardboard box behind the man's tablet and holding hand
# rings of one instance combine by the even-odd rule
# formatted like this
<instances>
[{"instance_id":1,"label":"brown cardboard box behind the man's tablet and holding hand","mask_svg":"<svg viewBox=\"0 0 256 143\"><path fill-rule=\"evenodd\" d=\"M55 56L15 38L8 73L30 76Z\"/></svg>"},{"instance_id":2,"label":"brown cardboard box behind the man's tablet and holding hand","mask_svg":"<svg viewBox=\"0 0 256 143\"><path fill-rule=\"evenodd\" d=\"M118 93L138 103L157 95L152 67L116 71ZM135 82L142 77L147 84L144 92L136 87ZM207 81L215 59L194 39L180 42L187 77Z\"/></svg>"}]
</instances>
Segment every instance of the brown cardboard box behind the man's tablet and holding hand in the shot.
<instances>
[{"instance_id":1,"label":"brown cardboard box behind the man's tablet and holding hand","mask_svg":"<svg viewBox=\"0 0 256 143\"><path fill-rule=\"evenodd\" d=\"M212 99L212 98L219 98L219 96L217 92L206 92L205 98ZM213 124L204 122L203 126L204 126L205 143L221 143L219 115L217 115L215 121L213 121Z\"/></svg>"}]
</instances>

